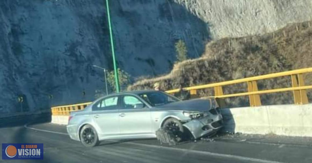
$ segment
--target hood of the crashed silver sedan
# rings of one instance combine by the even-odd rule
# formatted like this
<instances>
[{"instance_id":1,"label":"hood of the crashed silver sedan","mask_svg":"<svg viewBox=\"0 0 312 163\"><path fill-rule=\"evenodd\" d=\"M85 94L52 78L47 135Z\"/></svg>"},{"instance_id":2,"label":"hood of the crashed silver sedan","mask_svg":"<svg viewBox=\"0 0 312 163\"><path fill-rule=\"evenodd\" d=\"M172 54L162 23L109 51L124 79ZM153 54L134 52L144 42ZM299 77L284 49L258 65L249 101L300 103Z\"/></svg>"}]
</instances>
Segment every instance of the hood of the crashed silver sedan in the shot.
<instances>
[{"instance_id":1,"label":"hood of the crashed silver sedan","mask_svg":"<svg viewBox=\"0 0 312 163\"><path fill-rule=\"evenodd\" d=\"M193 99L167 103L154 108L159 110L208 111L211 108L211 103L207 99Z\"/></svg>"}]
</instances>

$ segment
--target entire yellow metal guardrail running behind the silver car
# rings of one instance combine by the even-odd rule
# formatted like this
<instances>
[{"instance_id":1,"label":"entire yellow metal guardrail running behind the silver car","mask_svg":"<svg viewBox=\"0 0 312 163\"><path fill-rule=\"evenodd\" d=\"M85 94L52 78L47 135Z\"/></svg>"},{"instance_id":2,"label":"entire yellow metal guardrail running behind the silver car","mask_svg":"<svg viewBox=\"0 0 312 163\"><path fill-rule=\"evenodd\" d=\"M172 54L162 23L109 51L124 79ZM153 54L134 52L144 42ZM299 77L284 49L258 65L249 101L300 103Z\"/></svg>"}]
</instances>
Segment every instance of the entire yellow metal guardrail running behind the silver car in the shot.
<instances>
[{"instance_id":1,"label":"entire yellow metal guardrail running behind the silver car","mask_svg":"<svg viewBox=\"0 0 312 163\"><path fill-rule=\"evenodd\" d=\"M249 77L249 78L244 78L244 79L224 81L224 82L220 82L220 83L204 84L204 85L198 85L198 86L193 86L193 87L185 87L182 89L173 89L173 90L168 90L166 92L173 94L173 93L178 93L181 90L183 90L183 91L190 91L191 95L196 95L197 90L199 90L199 89L213 88L214 89L214 96L211 96L209 98L216 98L221 107L225 105L224 98L239 97L239 96L249 96L250 106L254 107L254 106L261 106L260 94L292 91L295 104L306 104L306 103L308 103L308 97L307 97L306 89L312 89L312 85L305 86L303 74L310 73L310 72L312 72L312 67L311 68L305 68L305 69L299 69L299 70L274 73L274 74L260 75L260 76ZM280 89L260 90L260 91L258 90L257 80L272 79L272 78L278 78L278 77L284 77L284 76L290 76L291 77L292 87L280 88ZM233 93L233 94L224 94L223 93L222 86L232 85L232 84L240 84L240 83L247 83L248 92ZM66 116L66 115L69 115L69 113L71 111L84 109L90 103L91 102L52 107L51 108L52 109L52 115Z\"/></svg>"}]
</instances>

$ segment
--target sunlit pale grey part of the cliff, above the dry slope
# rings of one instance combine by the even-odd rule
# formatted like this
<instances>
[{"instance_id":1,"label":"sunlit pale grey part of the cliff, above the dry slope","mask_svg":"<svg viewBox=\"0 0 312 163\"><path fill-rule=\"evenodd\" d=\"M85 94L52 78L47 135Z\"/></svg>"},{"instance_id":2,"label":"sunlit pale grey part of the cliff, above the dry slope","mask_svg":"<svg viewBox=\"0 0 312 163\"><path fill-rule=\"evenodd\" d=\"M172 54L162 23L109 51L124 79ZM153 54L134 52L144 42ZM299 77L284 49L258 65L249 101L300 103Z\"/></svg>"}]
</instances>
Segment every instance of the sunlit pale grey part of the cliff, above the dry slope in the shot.
<instances>
[{"instance_id":1,"label":"sunlit pale grey part of the cliff, above the dry slope","mask_svg":"<svg viewBox=\"0 0 312 163\"><path fill-rule=\"evenodd\" d=\"M213 39L259 35L311 20L310 0L176 0L210 25Z\"/></svg>"}]
</instances>

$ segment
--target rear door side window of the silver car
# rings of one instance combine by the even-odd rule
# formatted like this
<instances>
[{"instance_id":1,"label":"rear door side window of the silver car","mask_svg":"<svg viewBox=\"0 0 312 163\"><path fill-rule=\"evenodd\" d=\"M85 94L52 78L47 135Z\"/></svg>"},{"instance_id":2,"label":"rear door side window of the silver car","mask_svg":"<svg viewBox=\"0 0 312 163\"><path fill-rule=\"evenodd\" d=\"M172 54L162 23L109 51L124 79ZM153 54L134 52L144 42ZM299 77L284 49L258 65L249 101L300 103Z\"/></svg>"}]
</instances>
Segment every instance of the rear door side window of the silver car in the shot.
<instances>
[{"instance_id":1,"label":"rear door side window of the silver car","mask_svg":"<svg viewBox=\"0 0 312 163\"><path fill-rule=\"evenodd\" d=\"M93 110L111 110L118 108L118 97L109 97L100 100L97 104L93 106Z\"/></svg>"}]
</instances>

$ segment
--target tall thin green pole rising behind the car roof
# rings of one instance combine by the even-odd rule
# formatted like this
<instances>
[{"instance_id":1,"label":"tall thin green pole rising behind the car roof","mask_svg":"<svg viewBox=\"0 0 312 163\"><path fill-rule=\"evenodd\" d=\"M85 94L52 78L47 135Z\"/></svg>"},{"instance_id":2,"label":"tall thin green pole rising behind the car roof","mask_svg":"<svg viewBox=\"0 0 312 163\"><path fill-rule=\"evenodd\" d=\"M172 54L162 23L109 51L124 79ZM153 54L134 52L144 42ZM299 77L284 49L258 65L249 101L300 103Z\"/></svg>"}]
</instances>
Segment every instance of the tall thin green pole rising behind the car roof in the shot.
<instances>
[{"instance_id":1,"label":"tall thin green pole rising behind the car roof","mask_svg":"<svg viewBox=\"0 0 312 163\"><path fill-rule=\"evenodd\" d=\"M116 64L116 59L115 59L113 32L112 32L112 25L110 23L110 8L109 8L108 0L106 0L106 9L107 9L107 17L108 17L108 26L110 27L110 44L112 46L114 72L115 72L115 82L116 82L116 92L118 93L120 91L120 86L119 86L119 78L118 78L118 72L117 72L117 64Z\"/></svg>"}]
</instances>

